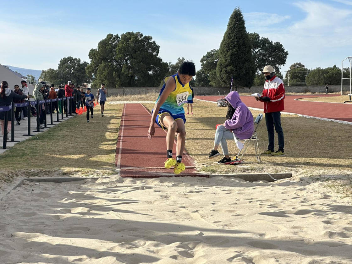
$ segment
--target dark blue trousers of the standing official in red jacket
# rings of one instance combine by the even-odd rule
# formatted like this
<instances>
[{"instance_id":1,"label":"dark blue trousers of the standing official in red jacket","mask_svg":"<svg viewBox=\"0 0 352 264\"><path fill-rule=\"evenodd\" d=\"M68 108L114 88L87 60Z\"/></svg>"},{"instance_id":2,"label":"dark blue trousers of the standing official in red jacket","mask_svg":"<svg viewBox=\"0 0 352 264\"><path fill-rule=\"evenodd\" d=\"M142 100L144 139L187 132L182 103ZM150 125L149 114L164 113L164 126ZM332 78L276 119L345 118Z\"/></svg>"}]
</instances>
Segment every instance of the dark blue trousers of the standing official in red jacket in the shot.
<instances>
[{"instance_id":1,"label":"dark blue trousers of the standing official in red jacket","mask_svg":"<svg viewBox=\"0 0 352 264\"><path fill-rule=\"evenodd\" d=\"M279 150L284 152L284 132L281 127L281 112L265 113L266 130L268 130L268 149L274 151L274 126L277 133Z\"/></svg>"}]
</instances>

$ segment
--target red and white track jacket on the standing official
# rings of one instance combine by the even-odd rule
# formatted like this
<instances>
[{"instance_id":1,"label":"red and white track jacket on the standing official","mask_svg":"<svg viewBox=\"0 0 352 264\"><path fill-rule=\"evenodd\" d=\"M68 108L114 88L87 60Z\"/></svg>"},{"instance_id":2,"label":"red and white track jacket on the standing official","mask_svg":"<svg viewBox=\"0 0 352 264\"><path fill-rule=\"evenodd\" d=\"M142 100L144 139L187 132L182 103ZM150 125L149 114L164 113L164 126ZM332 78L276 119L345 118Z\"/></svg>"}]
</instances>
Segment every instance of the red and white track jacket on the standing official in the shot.
<instances>
[{"instance_id":1,"label":"red and white track jacket on the standing official","mask_svg":"<svg viewBox=\"0 0 352 264\"><path fill-rule=\"evenodd\" d=\"M270 98L270 101L264 102L264 113L284 110L285 87L280 78L274 75L269 81L266 80L262 96Z\"/></svg>"}]
</instances>

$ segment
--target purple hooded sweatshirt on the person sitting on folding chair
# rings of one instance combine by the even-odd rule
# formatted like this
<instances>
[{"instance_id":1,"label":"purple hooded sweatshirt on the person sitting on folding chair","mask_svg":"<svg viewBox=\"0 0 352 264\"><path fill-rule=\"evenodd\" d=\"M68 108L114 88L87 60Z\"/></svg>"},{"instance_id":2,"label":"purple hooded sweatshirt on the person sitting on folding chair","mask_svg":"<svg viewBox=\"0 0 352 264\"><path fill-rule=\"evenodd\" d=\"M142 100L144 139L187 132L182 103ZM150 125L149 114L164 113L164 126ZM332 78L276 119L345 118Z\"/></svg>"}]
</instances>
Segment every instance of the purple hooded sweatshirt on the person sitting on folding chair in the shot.
<instances>
[{"instance_id":1,"label":"purple hooded sweatshirt on the person sitting on folding chair","mask_svg":"<svg viewBox=\"0 0 352 264\"><path fill-rule=\"evenodd\" d=\"M250 138L254 132L253 115L241 101L238 92L228 93L225 99L235 108L231 119L225 121L225 128L232 130L238 139Z\"/></svg>"}]
</instances>

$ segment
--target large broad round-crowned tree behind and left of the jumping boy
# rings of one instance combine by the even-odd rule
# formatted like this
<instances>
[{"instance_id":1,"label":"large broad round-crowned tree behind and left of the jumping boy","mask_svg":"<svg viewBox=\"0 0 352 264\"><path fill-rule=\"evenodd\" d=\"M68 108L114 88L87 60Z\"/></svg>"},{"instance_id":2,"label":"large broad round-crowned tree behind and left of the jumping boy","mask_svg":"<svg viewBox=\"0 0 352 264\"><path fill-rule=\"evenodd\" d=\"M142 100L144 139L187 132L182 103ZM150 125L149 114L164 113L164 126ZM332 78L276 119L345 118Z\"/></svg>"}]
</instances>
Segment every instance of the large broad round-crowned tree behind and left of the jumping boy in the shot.
<instances>
[{"instance_id":1,"label":"large broad round-crowned tree behind and left of the jumping boy","mask_svg":"<svg viewBox=\"0 0 352 264\"><path fill-rule=\"evenodd\" d=\"M89 51L90 64L86 72L97 87L158 86L168 73L168 63L159 55L159 45L151 36L140 32L108 34Z\"/></svg>"}]
</instances>

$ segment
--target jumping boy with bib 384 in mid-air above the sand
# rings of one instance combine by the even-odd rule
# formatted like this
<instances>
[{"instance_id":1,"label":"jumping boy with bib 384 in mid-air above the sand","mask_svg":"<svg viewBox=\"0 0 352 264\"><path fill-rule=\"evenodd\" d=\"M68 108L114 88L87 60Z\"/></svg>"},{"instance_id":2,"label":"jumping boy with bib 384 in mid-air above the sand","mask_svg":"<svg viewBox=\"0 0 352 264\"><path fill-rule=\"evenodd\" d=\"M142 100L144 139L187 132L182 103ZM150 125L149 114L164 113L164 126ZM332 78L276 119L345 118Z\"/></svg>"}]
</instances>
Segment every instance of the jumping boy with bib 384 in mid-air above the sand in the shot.
<instances>
[{"instance_id":1,"label":"jumping boy with bib 384 in mid-air above the sand","mask_svg":"<svg viewBox=\"0 0 352 264\"><path fill-rule=\"evenodd\" d=\"M174 174L180 174L186 168L182 161L184 143L186 141L186 130L184 123L183 104L187 102L188 96L192 93L189 82L196 74L193 62L185 61L181 64L177 74L164 78L163 85L158 99L152 110L148 138L152 139L155 133L154 122L162 129L167 129L166 134L166 161L165 168L174 166ZM177 137L176 160L172 158L172 147L174 137Z\"/></svg>"}]
</instances>

